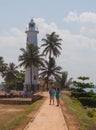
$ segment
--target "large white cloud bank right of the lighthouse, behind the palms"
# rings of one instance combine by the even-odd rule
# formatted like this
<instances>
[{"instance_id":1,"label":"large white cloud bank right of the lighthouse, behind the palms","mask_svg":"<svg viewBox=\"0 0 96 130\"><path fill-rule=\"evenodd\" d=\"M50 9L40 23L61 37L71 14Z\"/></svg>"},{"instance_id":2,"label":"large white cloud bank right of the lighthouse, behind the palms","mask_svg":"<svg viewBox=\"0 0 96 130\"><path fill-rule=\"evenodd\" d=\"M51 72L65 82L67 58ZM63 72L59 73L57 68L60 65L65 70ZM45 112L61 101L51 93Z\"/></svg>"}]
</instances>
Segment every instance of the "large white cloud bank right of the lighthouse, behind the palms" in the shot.
<instances>
[{"instance_id":1,"label":"large white cloud bank right of the lighthouse, behind the palms","mask_svg":"<svg viewBox=\"0 0 96 130\"><path fill-rule=\"evenodd\" d=\"M62 66L63 70L69 72L69 77L76 78L84 75L89 76L90 80L95 82L96 39L81 33L73 34L72 30L59 29L55 23L47 24L42 19L37 19L37 23L38 28L43 30L39 33L40 41L46 33L52 31L55 31L63 39L61 56L57 59L57 63Z\"/></svg>"}]
</instances>

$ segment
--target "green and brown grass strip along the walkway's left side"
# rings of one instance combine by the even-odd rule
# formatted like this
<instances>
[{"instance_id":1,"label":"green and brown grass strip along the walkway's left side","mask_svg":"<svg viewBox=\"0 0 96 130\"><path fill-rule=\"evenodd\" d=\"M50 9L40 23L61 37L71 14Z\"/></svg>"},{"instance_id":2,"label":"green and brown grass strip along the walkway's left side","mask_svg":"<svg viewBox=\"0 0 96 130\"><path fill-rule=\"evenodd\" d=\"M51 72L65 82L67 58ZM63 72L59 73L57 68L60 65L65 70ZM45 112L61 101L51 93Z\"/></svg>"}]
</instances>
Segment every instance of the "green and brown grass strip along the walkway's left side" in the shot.
<instances>
[{"instance_id":1,"label":"green and brown grass strip along the walkway's left side","mask_svg":"<svg viewBox=\"0 0 96 130\"><path fill-rule=\"evenodd\" d=\"M44 99L43 100L40 99L40 100L32 103L31 105L25 105L23 111L21 111L19 113L18 112L15 113L16 115L12 114L14 117L12 117L11 114L9 115L8 113L6 113L6 115L7 115L6 117L8 118L8 116L9 116L9 120L5 119L6 123L3 123L3 125L0 125L0 130L16 130L17 128L19 128L20 130L24 130L27 123L32 118L34 118L35 113L39 110L43 101L44 101ZM15 107L15 106L13 106L13 107ZM4 118L4 116L2 116L2 118Z\"/></svg>"}]
</instances>

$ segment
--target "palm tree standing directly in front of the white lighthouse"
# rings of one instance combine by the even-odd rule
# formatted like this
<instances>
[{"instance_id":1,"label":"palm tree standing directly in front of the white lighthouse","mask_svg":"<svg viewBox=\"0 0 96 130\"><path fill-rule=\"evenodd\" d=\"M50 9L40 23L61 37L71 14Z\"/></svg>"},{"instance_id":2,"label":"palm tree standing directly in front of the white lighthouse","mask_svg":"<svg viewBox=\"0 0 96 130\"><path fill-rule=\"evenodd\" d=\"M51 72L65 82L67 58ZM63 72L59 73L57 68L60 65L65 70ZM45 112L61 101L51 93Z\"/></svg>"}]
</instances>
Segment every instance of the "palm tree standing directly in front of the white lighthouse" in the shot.
<instances>
[{"instance_id":1,"label":"palm tree standing directly in front of the white lighthouse","mask_svg":"<svg viewBox=\"0 0 96 130\"><path fill-rule=\"evenodd\" d=\"M24 66L25 68L30 68L30 83L31 83L31 90L34 91L32 86L32 66L39 67L42 65L42 58L39 55L39 48L34 46L33 44L27 45L27 50L24 48L20 49L22 51L22 55L19 56L20 66Z\"/></svg>"}]
</instances>

